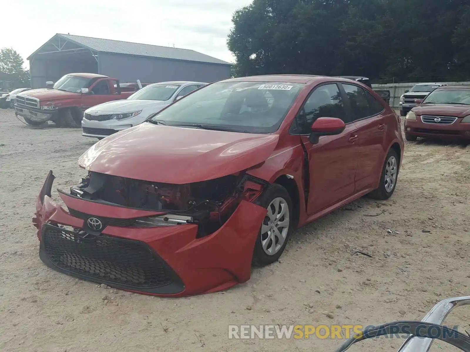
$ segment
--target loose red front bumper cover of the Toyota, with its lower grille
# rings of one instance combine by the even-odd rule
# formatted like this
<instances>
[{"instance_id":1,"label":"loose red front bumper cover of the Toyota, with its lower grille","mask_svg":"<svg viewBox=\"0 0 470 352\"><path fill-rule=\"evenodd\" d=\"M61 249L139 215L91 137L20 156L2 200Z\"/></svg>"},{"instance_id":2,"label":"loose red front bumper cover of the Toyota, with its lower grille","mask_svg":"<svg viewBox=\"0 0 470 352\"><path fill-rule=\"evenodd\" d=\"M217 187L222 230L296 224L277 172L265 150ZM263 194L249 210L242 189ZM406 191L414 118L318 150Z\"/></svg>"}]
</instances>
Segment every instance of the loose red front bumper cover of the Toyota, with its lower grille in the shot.
<instances>
[{"instance_id":1,"label":"loose red front bumper cover of the Toyota, with its lower grille","mask_svg":"<svg viewBox=\"0 0 470 352\"><path fill-rule=\"evenodd\" d=\"M196 238L194 224L108 225L99 236L83 238L66 228L86 227L86 219L72 216L71 209L90 217L117 219L161 213L95 203L59 192L67 211L51 199L54 178L50 171L33 218L40 258L50 268L126 291L167 297L221 291L250 279L253 248L266 215L263 207L243 200L219 230L202 238Z\"/></svg>"}]
</instances>

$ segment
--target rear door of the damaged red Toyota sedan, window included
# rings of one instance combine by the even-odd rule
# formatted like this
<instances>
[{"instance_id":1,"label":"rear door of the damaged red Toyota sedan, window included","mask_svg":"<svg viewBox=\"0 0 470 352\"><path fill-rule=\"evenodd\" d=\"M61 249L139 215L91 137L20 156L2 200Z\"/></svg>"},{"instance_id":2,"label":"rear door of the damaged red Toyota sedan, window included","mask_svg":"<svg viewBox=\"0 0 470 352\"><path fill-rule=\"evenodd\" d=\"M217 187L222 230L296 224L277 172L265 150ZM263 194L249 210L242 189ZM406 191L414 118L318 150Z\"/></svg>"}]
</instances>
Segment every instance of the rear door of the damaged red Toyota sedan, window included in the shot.
<instances>
[{"instance_id":1,"label":"rear door of the damaged red Toyota sedan, window included","mask_svg":"<svg viewBox=\"0 0 470 352\"><path fill-rule=\"evenodd\" d=\"M358 163L355 193L370 188L377 180L385 157L384 139L387 125L385 108L367 90L359 85L341 84L347 96L351 121L358 134Z\"/></svg>"}]
</instances>

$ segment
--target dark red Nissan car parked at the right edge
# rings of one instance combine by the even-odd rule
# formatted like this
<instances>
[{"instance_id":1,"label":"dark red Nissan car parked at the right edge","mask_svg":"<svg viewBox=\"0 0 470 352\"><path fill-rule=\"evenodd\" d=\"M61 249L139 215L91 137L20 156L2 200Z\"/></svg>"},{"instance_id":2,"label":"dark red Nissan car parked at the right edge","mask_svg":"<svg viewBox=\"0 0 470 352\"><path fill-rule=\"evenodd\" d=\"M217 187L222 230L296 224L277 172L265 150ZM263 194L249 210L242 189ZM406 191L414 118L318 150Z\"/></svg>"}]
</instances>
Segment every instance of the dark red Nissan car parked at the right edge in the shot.
<instances>
[{"instance_id":1,"label":"dark red Nissan car parked at the right edge","mask_svg":"<svg viewBox=\"0 0 470 352\"><path fill-rule=\"evenodd\" d=\"M405 138L470 139L470 86L436 88L405 118Z\"/></svg>"}]
</instances>

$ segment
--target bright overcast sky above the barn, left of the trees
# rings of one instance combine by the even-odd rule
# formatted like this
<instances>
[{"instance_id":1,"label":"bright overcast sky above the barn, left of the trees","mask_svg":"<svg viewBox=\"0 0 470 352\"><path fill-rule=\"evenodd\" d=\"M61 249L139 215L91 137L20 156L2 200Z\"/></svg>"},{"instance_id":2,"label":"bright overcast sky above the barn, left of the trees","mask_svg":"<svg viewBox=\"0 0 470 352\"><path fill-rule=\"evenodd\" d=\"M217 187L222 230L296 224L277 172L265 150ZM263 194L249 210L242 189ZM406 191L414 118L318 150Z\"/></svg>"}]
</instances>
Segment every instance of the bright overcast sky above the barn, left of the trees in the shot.
<instances>
[{"instance_id":1,"label":"bright overcast sky above the barn, left of the trees","mask_svg":"<svg viewBox=\"0 0 470 352\"><path fill-rule=\"evenodd\" d=\"M26 57L55 33L192 49L233 62L234 11L252 0L1 1L0 47ZM6 15L6 16L5 16Z\"/></svg>"}]
</instances>

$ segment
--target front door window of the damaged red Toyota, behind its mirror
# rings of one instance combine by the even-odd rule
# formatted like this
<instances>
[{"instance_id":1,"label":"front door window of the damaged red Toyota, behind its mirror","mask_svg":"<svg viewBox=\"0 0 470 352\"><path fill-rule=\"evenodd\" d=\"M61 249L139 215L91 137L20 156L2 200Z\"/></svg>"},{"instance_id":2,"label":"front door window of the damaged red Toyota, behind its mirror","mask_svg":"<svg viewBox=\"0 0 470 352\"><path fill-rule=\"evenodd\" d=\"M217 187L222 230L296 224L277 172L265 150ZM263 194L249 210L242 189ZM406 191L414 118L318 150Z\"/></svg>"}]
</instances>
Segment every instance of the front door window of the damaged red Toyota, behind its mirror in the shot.
<instances>
[{"instance_id":1,"label":"front door window of the damaged red Toyota, behind its mirror","mask_svg":"<svg viewBox=\"0 0 470 352\"><path fill-rule=\"evenodd\" d=\"M336 117L345 123L349 122L346 121L344 102L337 84L325 84L315 88L297 116L295 133L310 134L313 122L319 117ZM291 127L293 133L292 128L294 126Z\"/></svg>"}]
</instances>

